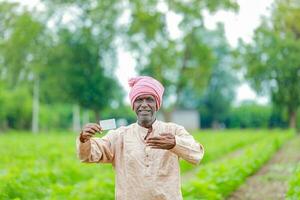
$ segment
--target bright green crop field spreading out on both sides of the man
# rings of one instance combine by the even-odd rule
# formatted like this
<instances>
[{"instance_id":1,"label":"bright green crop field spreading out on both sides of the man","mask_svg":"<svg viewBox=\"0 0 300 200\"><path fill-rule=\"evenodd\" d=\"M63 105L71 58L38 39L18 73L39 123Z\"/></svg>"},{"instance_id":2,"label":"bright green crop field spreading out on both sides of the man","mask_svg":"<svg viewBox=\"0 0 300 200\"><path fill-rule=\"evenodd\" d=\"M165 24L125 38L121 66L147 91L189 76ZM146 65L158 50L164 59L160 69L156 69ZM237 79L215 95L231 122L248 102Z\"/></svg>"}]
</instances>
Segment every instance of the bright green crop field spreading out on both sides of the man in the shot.
<instances>
[{"instance_id":1,"label":"bright green crop field spreading out on both sides of the man","mask_svg":"<svg viewBox=\"0 0 300 200\"><path fill-rule=\"evenodd\" d=\"M184 199L224 199L288 140L291 131L204 131L199 166L181 161ZM114 199L109 164L84 164L76 157L75 134L0 135L0 199ZM299 167L288 195L299 196Z\"/></svg>"}]
</instances>

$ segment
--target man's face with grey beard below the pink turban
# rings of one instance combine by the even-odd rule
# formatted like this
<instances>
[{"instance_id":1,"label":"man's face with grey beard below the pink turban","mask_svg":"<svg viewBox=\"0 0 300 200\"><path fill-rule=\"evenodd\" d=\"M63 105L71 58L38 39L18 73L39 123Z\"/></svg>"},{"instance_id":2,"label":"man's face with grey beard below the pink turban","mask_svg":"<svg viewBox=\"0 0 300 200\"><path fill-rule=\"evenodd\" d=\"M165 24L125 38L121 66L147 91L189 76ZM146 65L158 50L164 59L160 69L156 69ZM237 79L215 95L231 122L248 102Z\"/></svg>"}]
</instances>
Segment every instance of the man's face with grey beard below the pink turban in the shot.
<instances>
[{"instance_id":1,"label":"man's face with grey beard below the pink turban","mask_svg":"<svg viewBox=\"0 0 300 200\"><path fill-rule=\"evenodd\" d=\"M156 101L152 95L138 96L133 102L133 109L140 124L151 125L155 120Z\"/></svg>"}]
</instances>

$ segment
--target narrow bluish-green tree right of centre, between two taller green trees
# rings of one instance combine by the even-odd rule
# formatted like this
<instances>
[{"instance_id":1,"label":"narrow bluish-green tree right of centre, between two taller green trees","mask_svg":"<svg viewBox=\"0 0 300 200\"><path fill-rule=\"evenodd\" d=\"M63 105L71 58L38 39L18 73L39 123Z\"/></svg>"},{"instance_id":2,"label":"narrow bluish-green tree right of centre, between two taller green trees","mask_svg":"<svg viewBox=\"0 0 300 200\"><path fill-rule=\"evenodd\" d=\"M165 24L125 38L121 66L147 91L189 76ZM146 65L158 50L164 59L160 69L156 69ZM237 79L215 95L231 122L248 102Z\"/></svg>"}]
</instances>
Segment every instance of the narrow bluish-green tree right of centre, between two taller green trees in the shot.
<instances>
[{"instance_id":1,"label":"narrow bluish-green tree right of centre, between two taller green trees","mask_svg":"<svg viewBox=\"0 0 300 200\"><path fill-rule=\"evenodd\" d=\"M216 59L198 109L201 119L209 119L206 123L218 128L220 123L225 122L230 112L238 81L233 75L231 49L224 36L224 27L219 24L217 30L210 31L206 35L207 44L210 44Z\"/></svg>"}]
</instances>

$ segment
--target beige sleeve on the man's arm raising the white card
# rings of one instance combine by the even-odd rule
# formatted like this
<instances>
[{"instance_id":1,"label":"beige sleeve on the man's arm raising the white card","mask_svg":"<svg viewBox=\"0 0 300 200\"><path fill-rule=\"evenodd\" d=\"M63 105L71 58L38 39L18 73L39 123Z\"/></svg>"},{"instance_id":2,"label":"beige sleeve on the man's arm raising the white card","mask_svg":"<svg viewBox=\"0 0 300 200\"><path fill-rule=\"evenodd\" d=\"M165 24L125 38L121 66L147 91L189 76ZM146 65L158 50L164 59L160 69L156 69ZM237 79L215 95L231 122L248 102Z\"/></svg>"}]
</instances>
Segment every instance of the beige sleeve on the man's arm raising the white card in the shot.
<instances>
[{"instance_id":1,"label":"beige sleeve on the man's arm raising the white card","mask_svg":"<svg viewBox=\"0 0 300 200\"><path fill-rule=\"evenodd\" d=\"M87 163L113 163L117 132L108 132L102 138L91 138L82 143L79 137L76 140L77 155L81 162Z\"/></svg>"}]
</instances>

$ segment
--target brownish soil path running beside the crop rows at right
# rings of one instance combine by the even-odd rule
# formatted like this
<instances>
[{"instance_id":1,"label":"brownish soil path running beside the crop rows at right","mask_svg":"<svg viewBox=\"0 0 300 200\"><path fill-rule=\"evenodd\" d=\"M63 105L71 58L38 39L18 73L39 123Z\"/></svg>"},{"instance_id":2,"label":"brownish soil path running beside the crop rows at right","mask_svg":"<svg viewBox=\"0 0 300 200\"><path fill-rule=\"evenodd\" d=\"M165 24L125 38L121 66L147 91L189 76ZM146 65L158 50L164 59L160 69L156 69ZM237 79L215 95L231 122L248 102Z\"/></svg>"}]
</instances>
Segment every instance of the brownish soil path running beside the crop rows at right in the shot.
<instances>
[{"instance_id":1,"label":"brownish soil path running beside the crop rows at right","mask_svg":"<svg viewBox=\"0 0 300 200\"><path fill-rule=\"evenodd\" d=\"M284 199L288 181L300 162L300 135L293 137L256 174L236 190L229 200Z\"/></svg>"}]
</instances>

